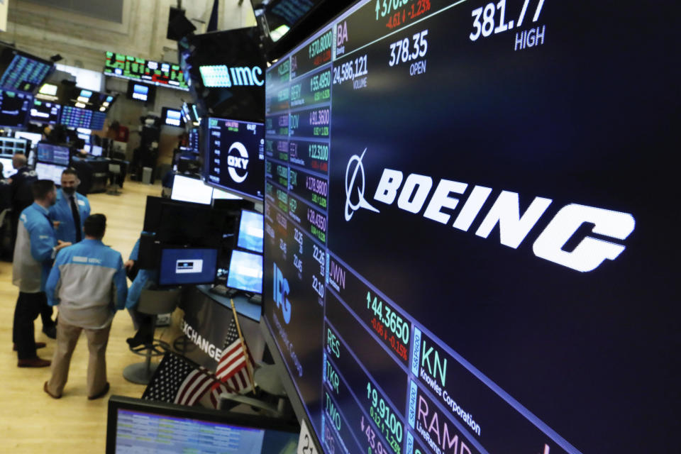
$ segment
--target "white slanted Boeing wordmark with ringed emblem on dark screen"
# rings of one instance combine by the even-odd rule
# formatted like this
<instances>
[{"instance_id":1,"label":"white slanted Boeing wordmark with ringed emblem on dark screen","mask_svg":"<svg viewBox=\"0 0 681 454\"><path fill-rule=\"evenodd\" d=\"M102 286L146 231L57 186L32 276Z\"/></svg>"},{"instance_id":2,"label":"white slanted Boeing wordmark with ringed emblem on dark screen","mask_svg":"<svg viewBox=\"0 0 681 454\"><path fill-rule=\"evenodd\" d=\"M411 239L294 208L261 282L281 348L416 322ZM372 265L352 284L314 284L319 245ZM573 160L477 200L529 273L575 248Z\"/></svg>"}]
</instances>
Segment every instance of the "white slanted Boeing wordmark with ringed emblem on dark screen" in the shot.
<instances>
[{"instance_id":1,"label":"white slanted Boeing wordmark with ringed emblem on dark screen","mask_svg":"<svg viewBox=\"0 0 681 454\"><path fill-rule=\"evenodd\" d=\"M350 157L345 170L345 221L350 221L355 211L360 208L379 212L364 197L365 173L362 157L364 153L362 156ZM353 167L353 172L350 172ZM360 170L361 181L358 183ZM352 176L348 179L350 174ZM351 200L355 183L358 183L356 203ZM404 174L399 170L384 169L374 194L374 200L392 205L397 199L398 208L411 214L420 213L423 206L426 206L423 211L424 218L467 232L479 217L482 206L492 193L489 187L475 185L465 201L463 198L453 196L453 194L464 194L468 187L467 183L441 179L431 193L433 189L431 177L410 174L404 178ZM430 201L426 204L428 196L430 196ZM460 206L458 214L450 214L458 208L460 201L463 202L463 206ZM475 231L475 235L487 238L498 225L499 242L509 248L517 249L552 202L552 199L535 197L528 209L521 214L519 194L502 190L485 217L482 218L482 223ZM443 208L449 211L441 211ZM572 240L571 243L575 243L573 236L585 225L591 225L591 232L595 235L625 240L633 232L636 221L629 213L594 206L567 204L558 210L534 241L532 245L534 255L572 270L589 272L595 270L605 260L615 260L624 251L624 245L593 236L584 236L572 250L563 249L568 241Z\"/></svg>"}]
</instances>

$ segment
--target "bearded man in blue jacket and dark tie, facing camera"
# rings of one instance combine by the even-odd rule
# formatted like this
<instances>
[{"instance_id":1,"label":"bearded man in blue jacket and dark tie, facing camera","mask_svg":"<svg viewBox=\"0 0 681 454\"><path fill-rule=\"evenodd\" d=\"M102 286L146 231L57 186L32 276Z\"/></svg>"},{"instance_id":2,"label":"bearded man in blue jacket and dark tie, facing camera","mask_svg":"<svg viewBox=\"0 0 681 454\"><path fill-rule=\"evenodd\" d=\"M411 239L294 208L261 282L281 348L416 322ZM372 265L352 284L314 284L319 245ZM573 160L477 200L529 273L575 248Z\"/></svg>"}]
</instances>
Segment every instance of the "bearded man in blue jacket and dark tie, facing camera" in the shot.
<instances>
[{"instance_id":1,"label":"bearded man in blue jacket and dark tie, facing camera","mask_svg":"<svg viewBox=\"0 0 681 454\"><path fill-rule=\"evenodd\" d=\"M76 192L79 184L75 170L64 170L62 189L57 191L57 203L50 207L50 219L56 223L57 240L73 244L83 239L83 224L87 216L90 216L87 197Z\"/></svg>"}]
</instances>

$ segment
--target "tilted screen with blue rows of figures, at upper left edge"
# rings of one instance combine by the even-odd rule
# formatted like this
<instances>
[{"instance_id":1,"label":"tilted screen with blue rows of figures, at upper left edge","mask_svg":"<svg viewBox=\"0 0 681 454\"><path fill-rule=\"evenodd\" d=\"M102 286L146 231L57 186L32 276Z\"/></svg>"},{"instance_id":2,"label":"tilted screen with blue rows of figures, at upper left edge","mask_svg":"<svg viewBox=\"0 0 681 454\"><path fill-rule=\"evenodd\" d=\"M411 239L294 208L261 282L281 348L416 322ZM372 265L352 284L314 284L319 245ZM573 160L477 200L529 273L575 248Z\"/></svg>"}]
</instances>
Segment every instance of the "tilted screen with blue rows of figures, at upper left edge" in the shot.
<instances>
[{"instance_id":1,"label":"tilted screen with blue rows of figures, at upper left edge","mask_svg":"<svg viewBox=\"0 0 681 454\"><path fill-rule=\"evenodd\" d=\"M0 87L34 92L54 69L48 60L0 44Z\"/></svg>"}]
</instances>

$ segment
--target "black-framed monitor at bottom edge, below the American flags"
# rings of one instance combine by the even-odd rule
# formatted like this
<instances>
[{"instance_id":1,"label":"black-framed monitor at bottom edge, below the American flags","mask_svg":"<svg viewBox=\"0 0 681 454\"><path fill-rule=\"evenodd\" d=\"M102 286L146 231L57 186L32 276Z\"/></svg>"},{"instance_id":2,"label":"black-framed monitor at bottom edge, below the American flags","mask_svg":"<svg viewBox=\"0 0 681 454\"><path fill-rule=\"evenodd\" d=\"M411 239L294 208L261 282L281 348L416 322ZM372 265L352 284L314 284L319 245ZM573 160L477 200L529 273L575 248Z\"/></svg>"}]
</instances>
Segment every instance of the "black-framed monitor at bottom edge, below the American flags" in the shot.
<instances>
[{"instance_id":1,"label":"black-framed monitor at bottom edge, below the American flags","mask_svg":"<svg viewBox=\"0 0 681 454\"><path fill-rule=\"evenodd\" d=\"M106 454L295 454L299 431L261 415L111 396Z\"/></svg>"}]
</instances>

